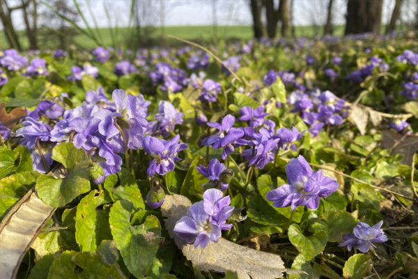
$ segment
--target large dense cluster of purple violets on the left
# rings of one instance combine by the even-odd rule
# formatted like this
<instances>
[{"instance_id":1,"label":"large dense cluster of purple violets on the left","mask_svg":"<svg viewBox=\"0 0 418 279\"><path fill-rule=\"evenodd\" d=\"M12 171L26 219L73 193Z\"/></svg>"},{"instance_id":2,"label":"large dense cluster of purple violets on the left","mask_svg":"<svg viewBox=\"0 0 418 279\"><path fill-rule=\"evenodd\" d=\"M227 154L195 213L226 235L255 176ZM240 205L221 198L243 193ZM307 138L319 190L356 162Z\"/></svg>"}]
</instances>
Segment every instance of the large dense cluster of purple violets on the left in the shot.
<instances>
[{"instance_id":1,"label":"large dense cluster of purple violets on the left","mask_svg":"<svg viewBox=\"0 0 418 279\"><path fill-rule=\"evenodd\" d=\"M0 135L6 139L15 138L20 145L28 147L33 169L38 172L47 172L51 167L52 148L56 144L72 142L102 167L104 174L95 179L95 183L102 183L109 174L121 172L119 154L126 149L144 149L153 158L148 176L164 175L180 160L178 152L187 148L186 144L180 143L179 135L164 140L176 123L182 123L183 114L162 100L155 120L148 121L149 105L141 94L127 95L122 89L114 90L112 100L109 100L99 88L88 91L86 101L70 110L65 110L62 98L42 100L35 110L27 112L22 127L15 133L0 124Z\"/></svg>"}]
</instances>

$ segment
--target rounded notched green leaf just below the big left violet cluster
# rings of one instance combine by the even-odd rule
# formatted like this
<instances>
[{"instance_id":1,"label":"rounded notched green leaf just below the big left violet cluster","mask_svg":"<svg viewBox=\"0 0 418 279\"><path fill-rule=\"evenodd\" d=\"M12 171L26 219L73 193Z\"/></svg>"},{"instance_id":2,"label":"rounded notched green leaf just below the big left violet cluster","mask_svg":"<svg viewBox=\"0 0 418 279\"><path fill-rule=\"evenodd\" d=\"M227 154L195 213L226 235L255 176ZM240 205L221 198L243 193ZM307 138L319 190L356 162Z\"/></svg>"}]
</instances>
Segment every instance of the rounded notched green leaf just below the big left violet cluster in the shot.
<instances>
[{"instance_id":1,"label":"rounded notched green leaf just below the big left violet cluster","mask_svg":"<svg viewBox=\"0 0 418 279\"><path fill-rule=\"evenodd\" d=\"M64 206L78 195L90 190L88 158L84 149L72 143L62 143L52 149L52 158L66 168L65 178L43 174L36 181L40 199L50 206Z\"/></svg>"}]
</instances>

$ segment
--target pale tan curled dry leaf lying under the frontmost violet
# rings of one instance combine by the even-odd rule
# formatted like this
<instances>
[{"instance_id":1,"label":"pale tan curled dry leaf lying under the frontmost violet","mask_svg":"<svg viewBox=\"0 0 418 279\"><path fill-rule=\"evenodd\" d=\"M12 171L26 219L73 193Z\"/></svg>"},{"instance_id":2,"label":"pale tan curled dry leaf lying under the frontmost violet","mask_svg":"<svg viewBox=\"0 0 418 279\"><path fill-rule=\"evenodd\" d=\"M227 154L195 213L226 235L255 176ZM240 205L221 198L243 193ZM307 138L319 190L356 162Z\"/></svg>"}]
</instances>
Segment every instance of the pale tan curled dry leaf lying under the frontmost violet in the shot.
<instances>
[{"instance_id":1,"label":"pale tan curled dry leaf lying under the frontmost violet","mask_svg":"<svg viewBox=\"0 0 418 279\"><path fill-rule=\"evenodd\" d=\"M161 212L167 217L165 224L171 238L183 255L201 271L235 271L239 279L273 279L283 276L285 271L288 272L279 255L240 246L222 238L218 243L210 242L204 249L194 248L192 244L179 239L173 228L177 220L187 214L191 204L182 195L166 195Z\"/></svg>"}]
</instances>

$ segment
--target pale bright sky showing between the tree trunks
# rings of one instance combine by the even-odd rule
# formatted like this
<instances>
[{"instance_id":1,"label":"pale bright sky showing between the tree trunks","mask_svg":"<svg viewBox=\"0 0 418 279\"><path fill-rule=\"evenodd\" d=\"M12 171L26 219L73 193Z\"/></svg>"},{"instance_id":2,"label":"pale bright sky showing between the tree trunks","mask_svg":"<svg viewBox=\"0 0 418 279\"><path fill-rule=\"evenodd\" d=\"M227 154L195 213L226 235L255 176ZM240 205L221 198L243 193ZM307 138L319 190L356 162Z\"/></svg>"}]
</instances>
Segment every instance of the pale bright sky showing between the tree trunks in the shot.
<instances>
[{"instance_id":1,"label":"pale bright sky showing between the tree trunks","mask_svg":"<svg viewBox=\"0 0 418 279\"><path fill-rule=\"evenodd\" d=\"M69 5L73 5L71 0ZM93 26L93 17L88 13L88 6L95 15L99 27L127 26L129 23L131 0L77 0L89 25ZM278 0L276 5L278 5ZM289 1L291 3L292 0ZM324 24L329 0L293 0L293 23L295 25ZM8 0L13 6L17 0ZM395 0L384 0L382 21L389 22ZM404 18L415 15L416 0L405 0L401 14ZM216 13L213 13L215 3ZM42 5L42 4L40 4ZM104 5L108 7L111 22L106 17ZM251 10L249 0L139 0L142 10L141 24L153 26L193 26L211 25L251 25ZM413 8L411 8L413 6ZM411 11L412 10L412 11ZM346 0L335 0L333 8L333 23L344 24ZM216 19L216 20L215 20ZM42 21L47 19L43 18ZM24 29L22 13L13 12L13 23L16 29ZM82 27L85 24L79 20ZM2 29L0 24L0 29Z\"/></svg>"}]
</instances>

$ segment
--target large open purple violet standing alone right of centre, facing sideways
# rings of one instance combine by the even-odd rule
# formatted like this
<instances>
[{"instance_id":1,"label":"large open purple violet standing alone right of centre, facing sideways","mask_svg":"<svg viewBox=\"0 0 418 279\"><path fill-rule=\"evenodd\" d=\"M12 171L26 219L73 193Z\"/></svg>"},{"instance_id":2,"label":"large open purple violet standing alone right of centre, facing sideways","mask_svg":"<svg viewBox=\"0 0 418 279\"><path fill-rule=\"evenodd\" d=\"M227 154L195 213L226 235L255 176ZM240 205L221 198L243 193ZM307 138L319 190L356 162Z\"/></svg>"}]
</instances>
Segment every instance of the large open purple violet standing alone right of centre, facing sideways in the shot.
<instances>
[{"instance_id":1,"label":"large open purple violet standing alone right of centre, facing sideways","mask_svg":"<svg viewBox=\"0 0 418 279\"><path fill-rule=\"evenodd\" d=\"M270 190L266 195L273 206L291 205L291 209L295 210L299 205L306 205L309 209L317 209L319 198L331 195L339 186L336 180L324 176L321 170L314 172L303 156L293 158L286 165L286 175L288 184Z\"/></svg>"}]
</instances>

